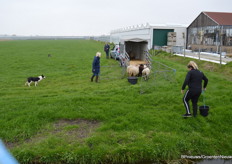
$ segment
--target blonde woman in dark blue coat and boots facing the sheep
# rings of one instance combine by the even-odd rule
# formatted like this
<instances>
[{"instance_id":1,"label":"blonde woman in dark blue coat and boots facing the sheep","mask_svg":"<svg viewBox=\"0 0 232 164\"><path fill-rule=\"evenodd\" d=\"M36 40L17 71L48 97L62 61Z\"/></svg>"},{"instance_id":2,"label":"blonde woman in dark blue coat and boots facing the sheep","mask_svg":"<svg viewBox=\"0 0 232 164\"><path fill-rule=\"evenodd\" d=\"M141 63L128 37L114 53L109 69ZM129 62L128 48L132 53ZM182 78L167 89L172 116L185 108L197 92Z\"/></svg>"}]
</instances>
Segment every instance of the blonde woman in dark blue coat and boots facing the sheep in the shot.
<instances>
[{"instance_id":1,"label":"blonde woman in dark blue coat and boots facing the sheep","mask_svg":"<svg viewBox=\"0 0 232 164\"><path fill-rule=\"evenodd\" d=\"M93 79L95 76L96 76L95 81L98 82L98 78L99 78L99 74L100 74L100 57L101 57L100 52L97 52L96 56L94 56L93 63L92 63L93 75L91 77L91 82L93 82Z\"/></svg>"}]
</instances>

